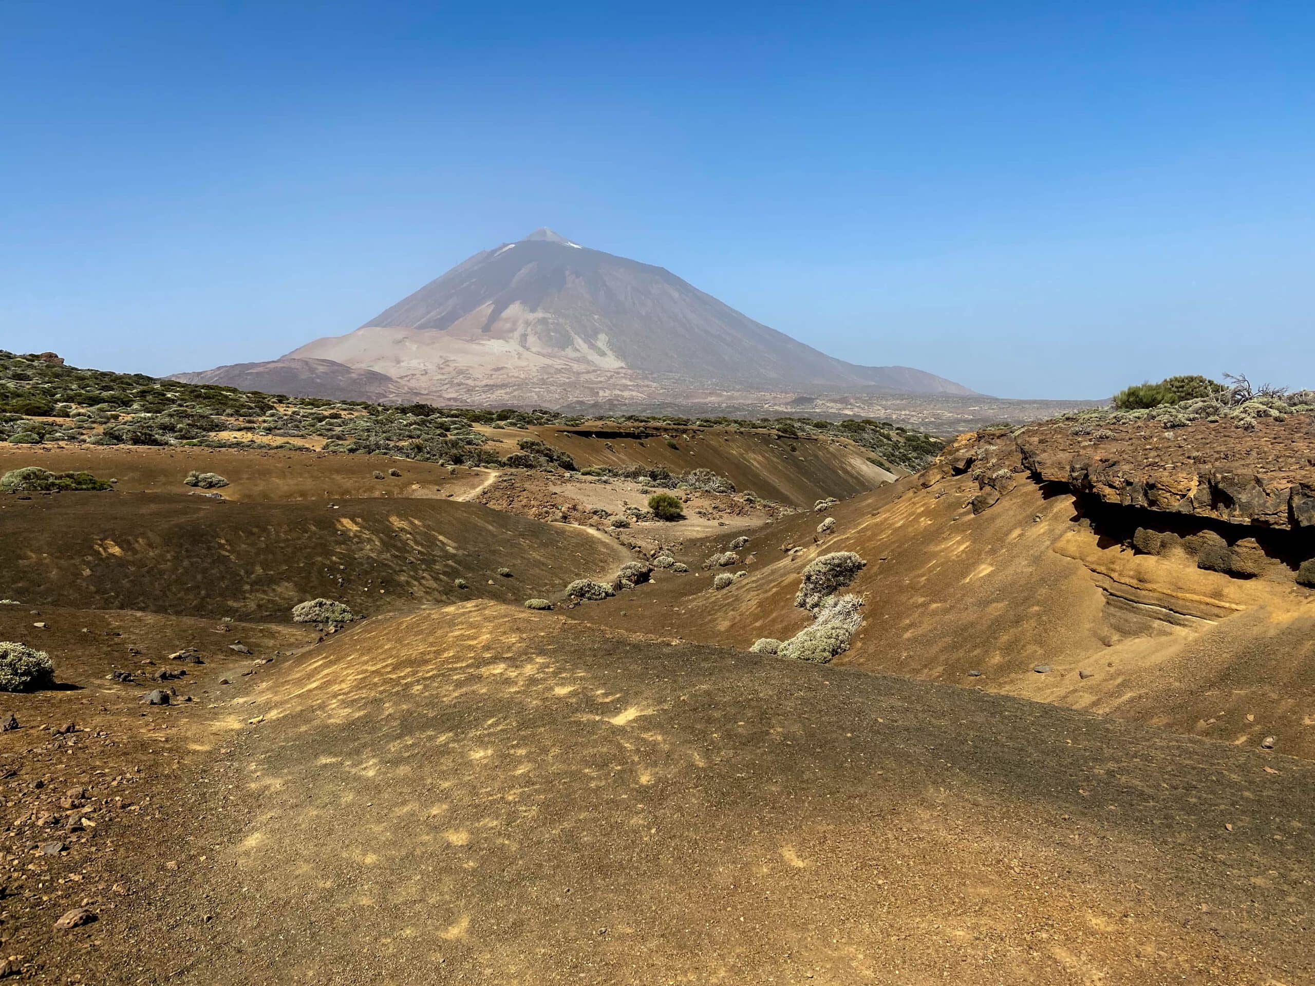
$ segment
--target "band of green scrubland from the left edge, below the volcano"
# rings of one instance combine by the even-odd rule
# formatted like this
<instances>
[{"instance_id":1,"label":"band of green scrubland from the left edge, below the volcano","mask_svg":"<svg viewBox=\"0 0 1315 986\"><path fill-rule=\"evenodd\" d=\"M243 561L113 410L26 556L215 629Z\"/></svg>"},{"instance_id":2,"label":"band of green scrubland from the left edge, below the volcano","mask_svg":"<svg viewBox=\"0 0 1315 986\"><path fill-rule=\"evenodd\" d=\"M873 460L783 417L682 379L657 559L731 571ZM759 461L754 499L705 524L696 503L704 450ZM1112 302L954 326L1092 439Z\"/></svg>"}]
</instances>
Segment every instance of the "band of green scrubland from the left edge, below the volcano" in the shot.
<instances>
[{"instance_id":1,"label":"band of green scrubland from the left edge, below the volcano","mask_svg":"<svg viewBox=\"0 0 1315 986\"><path fill-rule=\"evenodd\" d=\"M618 425L660 431L693 427L773 429L790 439L843 436L872 454L878 465L917 471L930 464L944 443L931 435L872 418L815 421L622 414ZM231 387L185 384L141 373L110 373L71 367L41 355L0 350L0 440L14 444L71 442L85 444L174 446L209 448L302 448L304 439L323 439L330 452L388 455L459 465L573 469L569 455L542 439L526 436L506 459L488 447L476 425L526 429L540 425L577 427L585 418L547 410L435 408L427 404L380 405L287 397ZM673 438L668 444L680 443ZM617 475L608 468L586 475ZM734 493L735 484L709 469L672 476L650 467L655 488L685 485L711 493Z\"/></svg>"}]
</instances>

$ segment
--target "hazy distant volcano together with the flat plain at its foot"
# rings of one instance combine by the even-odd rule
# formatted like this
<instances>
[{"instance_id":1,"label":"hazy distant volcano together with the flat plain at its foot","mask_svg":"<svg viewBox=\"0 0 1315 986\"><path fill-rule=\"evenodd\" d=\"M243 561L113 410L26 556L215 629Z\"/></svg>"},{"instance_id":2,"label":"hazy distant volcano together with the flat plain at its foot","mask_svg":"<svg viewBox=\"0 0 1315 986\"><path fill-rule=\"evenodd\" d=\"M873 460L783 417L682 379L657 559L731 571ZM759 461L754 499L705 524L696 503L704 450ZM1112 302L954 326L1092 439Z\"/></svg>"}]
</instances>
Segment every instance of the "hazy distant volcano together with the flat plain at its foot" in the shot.
<instances>
[{"instance_id":1,"label":"hazy distant volcano together with the flat plain at its foot","mask_svg":"<svg viewBox=\"0 0 1315 986\"><path fill-rule=\"evenodd\" d=\"M1090 402L1007 401L861 367L669 271L540 229L484 250L346 335L175 379L337 400L579 413L877 417L953 434Z\"/></svg>"}]
</instances>

